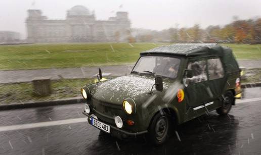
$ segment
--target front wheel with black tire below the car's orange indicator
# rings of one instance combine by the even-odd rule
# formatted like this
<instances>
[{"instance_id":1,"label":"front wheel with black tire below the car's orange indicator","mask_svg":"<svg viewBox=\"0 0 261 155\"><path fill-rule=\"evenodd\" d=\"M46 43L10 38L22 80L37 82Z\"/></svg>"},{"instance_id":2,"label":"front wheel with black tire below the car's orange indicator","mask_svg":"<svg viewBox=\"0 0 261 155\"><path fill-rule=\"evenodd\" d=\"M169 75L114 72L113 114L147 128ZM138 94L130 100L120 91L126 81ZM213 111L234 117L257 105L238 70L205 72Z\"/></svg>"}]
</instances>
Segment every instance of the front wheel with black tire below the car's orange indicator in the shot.
<instances>
[{"instance_id":1,"label":"front wheel with black tire below the car's orange indicator","mask_svg":"<svg viewBox=\"0 0 261 155\"><path fill-rule=\"evenodd\" d=\"M157 113L148 129L147 139L154 145L164 143L168 138L169 119L167 115Z\"/></svg>"}]
</instances>

